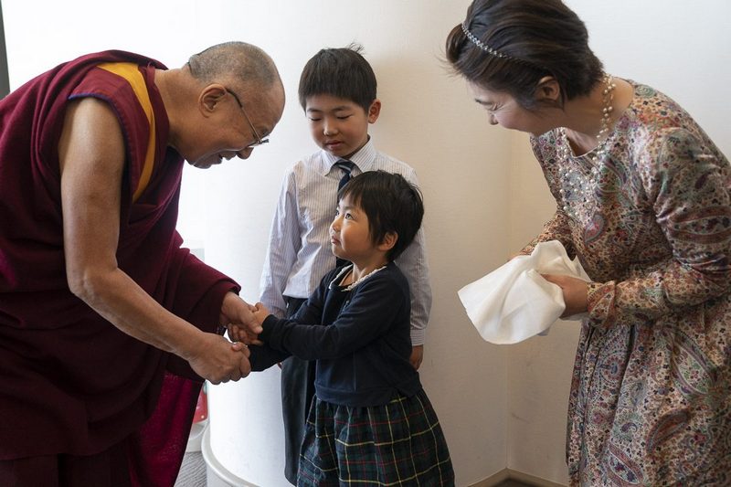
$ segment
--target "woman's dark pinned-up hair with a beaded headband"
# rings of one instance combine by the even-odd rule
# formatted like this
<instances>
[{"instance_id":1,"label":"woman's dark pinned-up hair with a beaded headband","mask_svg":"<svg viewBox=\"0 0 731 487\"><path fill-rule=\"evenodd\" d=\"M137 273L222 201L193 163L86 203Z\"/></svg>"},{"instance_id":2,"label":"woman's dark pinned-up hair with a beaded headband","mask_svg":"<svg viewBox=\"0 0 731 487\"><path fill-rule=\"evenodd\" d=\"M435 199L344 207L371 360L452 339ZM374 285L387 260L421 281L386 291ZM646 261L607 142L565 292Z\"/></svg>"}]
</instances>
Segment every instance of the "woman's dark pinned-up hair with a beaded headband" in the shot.
<instances>
[{"instance_id":1,"label":"woman's dark pinned-up hair with a beaded headband","mask_svg":"<svg viewBox=\"0 0 731 487\"><path fill-rule=\"evenodd\" d=\"M560 0L474 0L447 37L447 60L471 83L507 92L535 110L538 81L552 76L561 106L602 79L584 22Z\"/></svg>"}]
</instances>

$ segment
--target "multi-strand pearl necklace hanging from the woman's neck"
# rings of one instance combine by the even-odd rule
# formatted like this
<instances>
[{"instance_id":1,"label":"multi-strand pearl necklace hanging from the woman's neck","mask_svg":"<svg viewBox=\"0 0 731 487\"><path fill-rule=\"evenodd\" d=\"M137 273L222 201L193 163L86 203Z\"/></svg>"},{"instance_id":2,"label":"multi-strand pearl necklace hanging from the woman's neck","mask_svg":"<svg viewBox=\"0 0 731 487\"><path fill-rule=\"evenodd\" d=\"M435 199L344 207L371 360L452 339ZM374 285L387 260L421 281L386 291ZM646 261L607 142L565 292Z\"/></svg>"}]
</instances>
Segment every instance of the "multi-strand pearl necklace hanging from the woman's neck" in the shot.
<instances>
[{"instance_id":1,"label":"multi-strand pearl necklace hanging from the woman's neck","mask_svg":"<svg viewBox=\"0 0 731 487\"><path fill-rule=\"evenodd\" d=\"M559 161L564 163L558 172L558 175L563 181L563 187L561 187L559 193L565 202L578 201L586 204L597 193L600 176L599 159L609 151L609 129L611 125L611 113L614 110L612 101L614 101L614 90L617 88L610 74L604 74L604 82L607 86L601 92L601 101L603 103L601 109L601 127L599 128L599 133L597 133L597 146L587 153L591 154L591 164L588 164L590 166L589 168L582 167L581 169L585 169L582 171L577 164L567 164L575 156L572 154L566 129L564 127L558 129L556 154L559 156ZM564 205L564 211L570 217L577 217L576 211L569 205Z\"/></svg>"}]
</instances>

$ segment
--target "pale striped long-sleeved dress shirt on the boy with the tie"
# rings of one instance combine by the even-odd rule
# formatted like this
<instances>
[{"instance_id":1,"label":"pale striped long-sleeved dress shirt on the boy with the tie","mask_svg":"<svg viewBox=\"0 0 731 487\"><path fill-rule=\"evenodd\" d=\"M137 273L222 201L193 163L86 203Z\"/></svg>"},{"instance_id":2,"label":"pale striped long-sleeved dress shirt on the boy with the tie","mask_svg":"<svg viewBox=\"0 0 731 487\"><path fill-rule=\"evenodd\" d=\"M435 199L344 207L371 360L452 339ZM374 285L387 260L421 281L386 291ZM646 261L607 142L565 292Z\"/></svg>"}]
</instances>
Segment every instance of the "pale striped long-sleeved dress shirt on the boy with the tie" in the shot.
<instances>
[{"instance_id":1,"label":"pale striped long-sleeved dress shirt on the boy with the tie","mask_svg":"<svg viewBox=\"0 0 731 487\"><path fill-rule=\"evenodd\" d=\"M337 206L337 185L343 176L334 165L338 160L321 150L291 166L284 177L260 283L260 301L277 316L284 316L284 296L310 297L325 273L335 267L329 229ZM355 164L353 176L380 169L403 175L418 185L411 166L377 152L371 140L350 161ZM411 288L411 343L424 344L431 285L423 228L396 263Z\"/></svg>"}]
</instances>

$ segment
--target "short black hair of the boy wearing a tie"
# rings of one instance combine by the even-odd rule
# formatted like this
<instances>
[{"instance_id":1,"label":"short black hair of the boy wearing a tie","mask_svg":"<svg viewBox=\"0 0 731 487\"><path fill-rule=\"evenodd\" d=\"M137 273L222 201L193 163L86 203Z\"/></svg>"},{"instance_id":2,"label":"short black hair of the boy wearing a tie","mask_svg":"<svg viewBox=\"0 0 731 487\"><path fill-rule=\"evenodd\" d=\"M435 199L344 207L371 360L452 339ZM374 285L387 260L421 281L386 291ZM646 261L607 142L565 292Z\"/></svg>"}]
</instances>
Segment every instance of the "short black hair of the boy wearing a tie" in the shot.
<instances>
[{"instance_id":1,"label":"short black hair of the boy wearing a tie","mask_svg":"<svg viewBox=\"0 0 731 487\"><path fill-rule=\"evenodd\" d=\"M310 58L300 76L302 110L307 110L309 97L331 95L353 101L367 113L376 100L376 74L361 56L362 50L359 44L324 48Z\"/></svg>"}]
</instances>

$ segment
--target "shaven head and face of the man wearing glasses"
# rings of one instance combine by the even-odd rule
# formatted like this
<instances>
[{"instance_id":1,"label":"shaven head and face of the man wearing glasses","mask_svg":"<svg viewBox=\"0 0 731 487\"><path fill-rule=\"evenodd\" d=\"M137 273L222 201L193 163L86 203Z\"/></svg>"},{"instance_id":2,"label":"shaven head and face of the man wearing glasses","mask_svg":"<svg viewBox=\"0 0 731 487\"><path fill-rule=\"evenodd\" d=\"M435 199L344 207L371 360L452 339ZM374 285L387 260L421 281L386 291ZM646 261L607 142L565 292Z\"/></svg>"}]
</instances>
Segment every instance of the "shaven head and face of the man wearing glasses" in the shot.
<instances>
[{"instance_id":1,"label":"shaven head and face of the man wearing glasses","mask_svg":"<svg viewBox=\"0 0 731 487\"><path fill-rule=\"evenodd\" d=\"M170 122L168 144L199 167L233 154L247 158L284 111L274 61L246 42L207 48L182 69L160 69L155 85Z\"/></svg>"}]
</instances>

